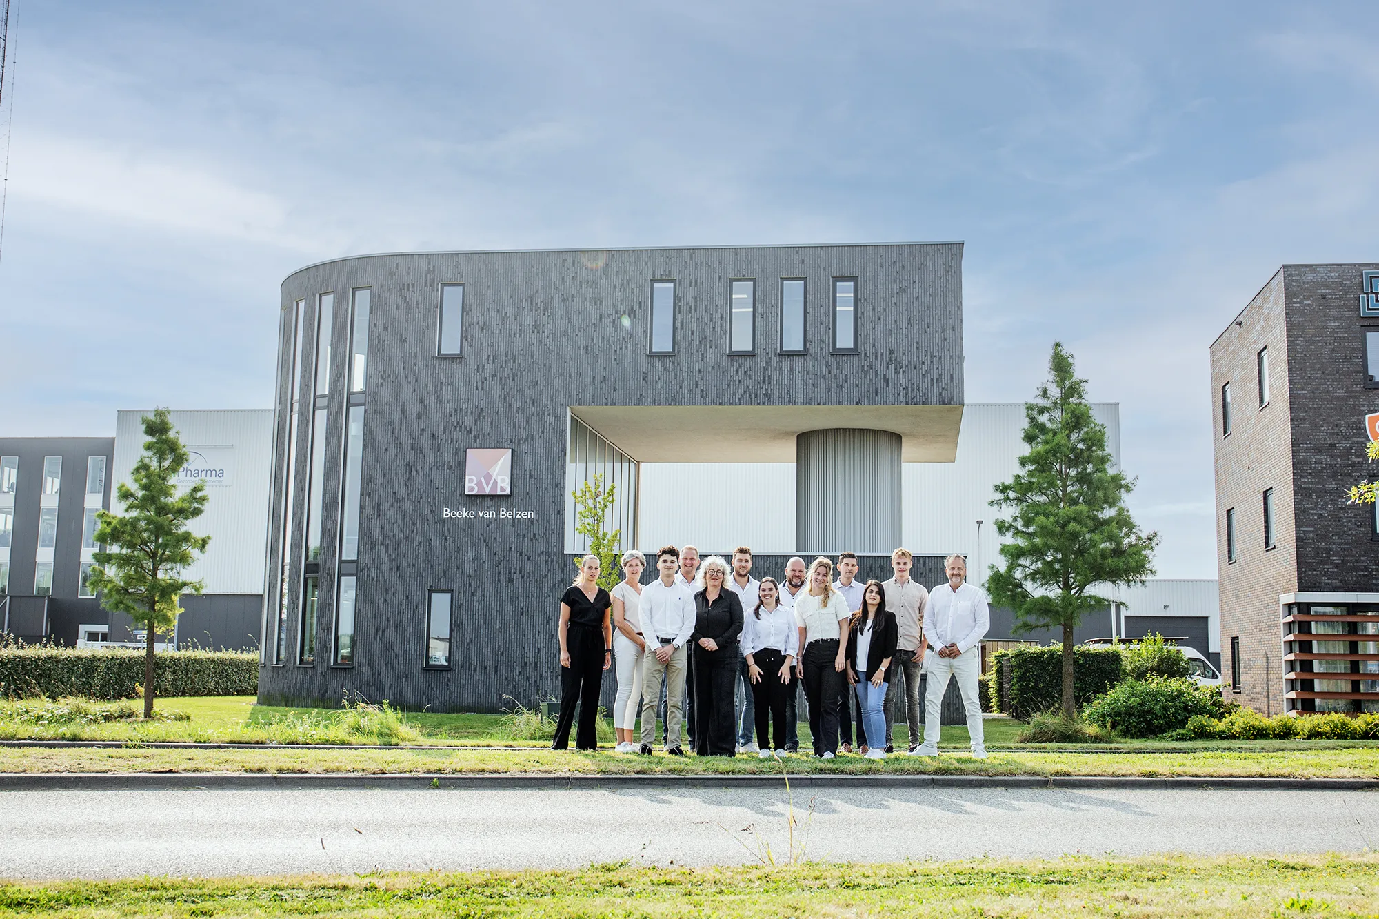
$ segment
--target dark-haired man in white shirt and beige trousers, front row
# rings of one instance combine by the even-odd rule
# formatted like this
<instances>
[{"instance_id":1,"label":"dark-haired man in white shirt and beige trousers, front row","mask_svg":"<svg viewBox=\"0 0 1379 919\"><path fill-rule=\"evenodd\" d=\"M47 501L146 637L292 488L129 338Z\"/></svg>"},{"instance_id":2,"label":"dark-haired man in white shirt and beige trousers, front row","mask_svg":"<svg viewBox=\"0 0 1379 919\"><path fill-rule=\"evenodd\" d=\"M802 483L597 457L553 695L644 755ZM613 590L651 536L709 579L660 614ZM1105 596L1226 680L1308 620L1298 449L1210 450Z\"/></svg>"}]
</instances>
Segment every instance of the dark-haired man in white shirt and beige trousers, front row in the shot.
<instances>
[{"instance_id":1,"label":"dark-haired man in white shirt and beige trousers, front row","mask_svg":"<svg viewBox=\"0 0 1379 919\"><path fill-rule=\"evenodd\" d=\"M676 580L680 552L673 545L656 553L661 577L641 588L641 635L647 653L641 657L641 747L638 752L651 755L656 740L656 704L661 686L666 686L666 752L684 756L680 741L680 711L685 691L685 644L694 635L694 593Z\"/></svg>"}]
</instances>

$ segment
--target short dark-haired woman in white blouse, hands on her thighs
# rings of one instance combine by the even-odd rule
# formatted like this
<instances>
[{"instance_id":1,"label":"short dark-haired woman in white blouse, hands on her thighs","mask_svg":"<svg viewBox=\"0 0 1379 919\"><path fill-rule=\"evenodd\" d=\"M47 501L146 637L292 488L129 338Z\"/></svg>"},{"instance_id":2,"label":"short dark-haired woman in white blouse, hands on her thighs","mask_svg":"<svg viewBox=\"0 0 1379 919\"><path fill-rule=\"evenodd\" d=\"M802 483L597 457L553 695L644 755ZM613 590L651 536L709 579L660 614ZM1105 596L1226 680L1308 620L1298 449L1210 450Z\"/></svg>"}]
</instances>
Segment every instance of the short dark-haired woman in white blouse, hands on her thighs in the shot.
<instances>
[{"instance_id":1,"label":"short dark-haired woman in white blouse, hands on her thighs","mask_svg":"<svg viewBox=\"0 0 1379 919\"><path fill-rule=\"evenodd\" d=\"M761 759L769 759L772 748L776 756L785 756L789 727L785 704L794 693L794 658L798 646L794 611L781 606L781 585L775 578L761 578L757 604L742 624L742 655L747 661L747 678L752 680ZM767 733L771 724L775 726L775 744L769 742L771 735Z\"/></svg>"}]
</instances>

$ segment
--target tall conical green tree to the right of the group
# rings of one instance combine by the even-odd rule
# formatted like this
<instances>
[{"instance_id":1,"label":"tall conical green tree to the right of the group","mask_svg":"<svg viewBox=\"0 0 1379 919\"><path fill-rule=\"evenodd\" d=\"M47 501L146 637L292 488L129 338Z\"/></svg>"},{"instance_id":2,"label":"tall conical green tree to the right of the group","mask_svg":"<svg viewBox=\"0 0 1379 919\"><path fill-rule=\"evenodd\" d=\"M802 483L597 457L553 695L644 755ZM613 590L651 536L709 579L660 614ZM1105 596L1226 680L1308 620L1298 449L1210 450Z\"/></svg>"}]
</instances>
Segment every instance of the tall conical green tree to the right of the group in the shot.
<instances>
[{"instance_id":1,"label":"tall conical green tree to the right of the group","mask_svg":"<svg viewBox=\"0 0 1379 919\"><path fill-rule=\"evenodd\" d=\"M1111 472L1106 428L1092 417L1073 356L1055 342L1048 364L1048 381L1025 406L1029 453L1015 477L996 486L992 506L1011 516L996 520L1005 566L993 564L986 585L1015 611L1016 631L1062 628L1063 713L1074 718L1073 629L1111 604L1094 591L1154 573L1158 534L1140 533L1124 505L1135 480Z\"/></svg>"}]
</instances>

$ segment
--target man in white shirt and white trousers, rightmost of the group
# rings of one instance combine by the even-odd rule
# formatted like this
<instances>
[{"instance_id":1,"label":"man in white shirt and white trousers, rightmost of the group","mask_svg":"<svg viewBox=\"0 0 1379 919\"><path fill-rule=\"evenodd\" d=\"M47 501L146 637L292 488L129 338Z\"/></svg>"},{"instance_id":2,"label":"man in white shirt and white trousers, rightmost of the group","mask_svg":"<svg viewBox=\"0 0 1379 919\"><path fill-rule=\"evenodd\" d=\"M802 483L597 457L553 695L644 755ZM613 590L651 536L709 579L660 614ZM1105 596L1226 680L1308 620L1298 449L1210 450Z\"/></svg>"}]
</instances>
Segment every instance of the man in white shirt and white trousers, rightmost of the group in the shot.
<instances>
[{"instance_id":1,"label":"man in white shirt and white trousers, rightmost of the group","mask_svg":"<svg viewBox=\"0 0 1379 919\"><path fill-rule=\"evenodd\" d=\"M947 584L929 592L924 610L924 639L935 653L929 657L929 682L924 690L924 744L913 755L939 755L939 711L949 678L956 678L967 709L972 759L986 759L982 698L976 682L982 678L982 636L992 628L992 613L986 593L967 584L967 560L961 555L950 555L945 567Z\"/></svg>"}]
</instances>

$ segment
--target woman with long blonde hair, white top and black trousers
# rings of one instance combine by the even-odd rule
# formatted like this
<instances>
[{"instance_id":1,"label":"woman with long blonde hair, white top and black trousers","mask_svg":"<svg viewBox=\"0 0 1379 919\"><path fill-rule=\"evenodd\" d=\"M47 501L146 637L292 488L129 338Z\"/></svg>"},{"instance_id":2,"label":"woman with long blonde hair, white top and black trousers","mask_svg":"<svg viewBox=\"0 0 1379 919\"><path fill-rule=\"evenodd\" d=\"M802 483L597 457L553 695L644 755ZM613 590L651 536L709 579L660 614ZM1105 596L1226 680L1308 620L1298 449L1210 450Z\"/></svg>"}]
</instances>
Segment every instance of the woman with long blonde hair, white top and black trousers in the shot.
<instances>
[{"instance_id":1,"label":"woman with long blonde hair, white top and black trousers","mask_svg":"<svg viewBox=\"0 0 1379 919\"><path fill-rule=\"evenodd\" d=\"M794 620L800 628L798 673L809 701L809 734L814 755L833 759L838 751L838 705L847 684L845 657L848 618L852 611L833 589L833 563L819 557L809 566L809 591L794 597Z\"/></svg>"}]
</instances>

